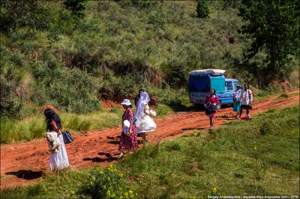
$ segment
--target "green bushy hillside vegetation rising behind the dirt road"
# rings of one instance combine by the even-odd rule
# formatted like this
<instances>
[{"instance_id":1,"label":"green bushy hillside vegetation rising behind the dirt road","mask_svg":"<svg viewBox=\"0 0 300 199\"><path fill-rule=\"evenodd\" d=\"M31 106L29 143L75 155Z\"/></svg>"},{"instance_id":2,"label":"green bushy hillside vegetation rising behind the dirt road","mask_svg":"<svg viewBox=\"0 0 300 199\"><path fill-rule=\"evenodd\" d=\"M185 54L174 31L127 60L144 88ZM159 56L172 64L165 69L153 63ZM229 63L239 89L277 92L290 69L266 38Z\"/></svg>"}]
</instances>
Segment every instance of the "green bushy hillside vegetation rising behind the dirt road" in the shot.
<instances>
[{"instance_id":1,"label":"green bushy hillside vegetation rising behind the dirt road","mask_svg":"<svg viewBox=\"0 0 300 199\"><path fill-rule=\"evenodd\" d=\"M204 18L196 1L78 2L1 1L1 119L45 104L88 113L101 109L99 99L132 99L138 88L173 106L186 99L194 69L225 69L241 83L273 88L259 72L266 52L243 55L253 39L237 31L248 24L240 1L207 1ZM289 55L291 75L274 80L298 86L298 49Z\"/></svg>"}]
</instances>

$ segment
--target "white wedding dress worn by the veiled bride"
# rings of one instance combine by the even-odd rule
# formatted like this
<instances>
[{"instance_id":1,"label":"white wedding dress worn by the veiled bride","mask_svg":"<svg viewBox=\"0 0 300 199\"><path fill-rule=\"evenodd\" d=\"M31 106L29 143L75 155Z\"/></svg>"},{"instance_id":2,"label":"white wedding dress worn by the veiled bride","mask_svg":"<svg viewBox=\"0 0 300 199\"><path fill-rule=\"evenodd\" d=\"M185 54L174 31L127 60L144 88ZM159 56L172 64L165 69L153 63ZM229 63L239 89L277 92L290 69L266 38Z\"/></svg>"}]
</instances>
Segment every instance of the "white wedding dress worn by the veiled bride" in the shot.
<instances>
[{"instance_id":1,"label":"white wedding dress worn by the veiled bride","mask_svg":"<svg viewBox=\"0 0 300 199\"><path fill-rule=\"evenodd\" d=\"M146 112L149 114L149 106L146 102L142 102L142 106L144 107L146 105ZM148 115L146 115L144 112L142 112L141 117L139 120L135 122L135 133L144 133L144 132L151 132L155 131L156 124L152 120L152 118Z\"/></svg>"}]
</instances>

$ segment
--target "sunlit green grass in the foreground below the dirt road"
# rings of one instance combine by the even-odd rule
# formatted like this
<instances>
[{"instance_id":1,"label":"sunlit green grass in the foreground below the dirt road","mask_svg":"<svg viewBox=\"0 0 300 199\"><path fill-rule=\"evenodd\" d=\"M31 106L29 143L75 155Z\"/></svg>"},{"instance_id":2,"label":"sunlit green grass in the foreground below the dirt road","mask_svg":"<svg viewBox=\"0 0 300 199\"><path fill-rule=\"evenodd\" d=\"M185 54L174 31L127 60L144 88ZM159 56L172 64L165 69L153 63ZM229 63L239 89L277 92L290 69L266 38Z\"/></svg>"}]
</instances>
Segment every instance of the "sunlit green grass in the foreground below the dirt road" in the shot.
<instances>
[{"instance_id":1,"label":"sunlit green grass in the foreground below the dirt road","mask_svg":"<svg viewBox=\"0 0 300 199\"><path fill-rule=\"evenodd\" d=\"M266 163L258 176L255 159ZM141 198L299 195L299 107L144 145L116 168L125 177L121 188ZM89 171L44 174L30 186L3 189L1 198L88 198L80 189Z\"/></svg>"}]
</instances>

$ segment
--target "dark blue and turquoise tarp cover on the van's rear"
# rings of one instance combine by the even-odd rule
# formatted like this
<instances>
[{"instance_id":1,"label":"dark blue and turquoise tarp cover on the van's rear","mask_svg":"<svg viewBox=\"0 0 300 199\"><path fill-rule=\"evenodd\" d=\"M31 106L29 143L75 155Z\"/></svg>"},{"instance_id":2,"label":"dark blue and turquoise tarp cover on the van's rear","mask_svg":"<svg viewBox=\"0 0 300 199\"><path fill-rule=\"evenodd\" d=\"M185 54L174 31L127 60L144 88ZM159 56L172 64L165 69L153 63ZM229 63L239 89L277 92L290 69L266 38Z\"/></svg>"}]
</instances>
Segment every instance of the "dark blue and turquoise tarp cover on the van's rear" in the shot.
<instances>
[{"instance_id":1,"label":"dark blue and turquoise tarp cover on the van's rear","mask_svg":"<svg viewBox=\"0 0 300 199\"><path fill-rule=\"evenodd\" d=\"M217 93L225 92L224 75L189 75L188 78L189 91L209 92L214 89Z\"/></svg>"}]
</instances>

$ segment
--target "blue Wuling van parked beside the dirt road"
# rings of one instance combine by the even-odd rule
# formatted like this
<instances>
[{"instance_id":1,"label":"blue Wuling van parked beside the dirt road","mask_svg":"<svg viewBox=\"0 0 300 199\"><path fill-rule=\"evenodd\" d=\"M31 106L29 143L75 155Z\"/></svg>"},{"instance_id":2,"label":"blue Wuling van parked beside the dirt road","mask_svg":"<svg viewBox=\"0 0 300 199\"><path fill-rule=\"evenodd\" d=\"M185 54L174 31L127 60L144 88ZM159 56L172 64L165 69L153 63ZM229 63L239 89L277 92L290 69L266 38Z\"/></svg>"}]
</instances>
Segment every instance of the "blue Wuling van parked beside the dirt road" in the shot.
<instances>
[{"instance_id":1,"label":"blue Wuling van parked beside the dirt road","mask_svg":"<svg viewBox=\"0 0 300 199\"><path fill-rule=\"evenodd\" d=\"M224 75L189 74L189 101L194 104L204 104L210 89L215 90L220 109L224 104L233 104L233 92L239 82L236 79L225 78Z\"/></svg>"}]
</instances>

